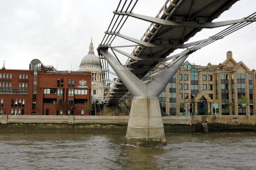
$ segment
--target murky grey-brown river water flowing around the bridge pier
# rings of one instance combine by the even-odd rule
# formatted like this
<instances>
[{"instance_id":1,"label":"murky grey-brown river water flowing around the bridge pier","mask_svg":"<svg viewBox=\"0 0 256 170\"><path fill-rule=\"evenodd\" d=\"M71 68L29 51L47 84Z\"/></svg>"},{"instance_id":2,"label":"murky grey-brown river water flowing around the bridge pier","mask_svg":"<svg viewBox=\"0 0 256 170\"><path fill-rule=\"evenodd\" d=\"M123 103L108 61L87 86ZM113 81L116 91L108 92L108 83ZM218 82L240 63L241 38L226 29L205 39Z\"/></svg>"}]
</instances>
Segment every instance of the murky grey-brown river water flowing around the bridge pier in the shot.
<instances>
[{"instance_id":1,"label":"murky grey-brown river water flowing around the bridge pier","mask_svg":"<svg viewBox=\"0 0 256 170\"><path fill-rule=\"evenodd\" d=\"M1 132L0 169L256 169L255 134L166 134L153 149L124 136Z\"/></svg>"}]
</instances>

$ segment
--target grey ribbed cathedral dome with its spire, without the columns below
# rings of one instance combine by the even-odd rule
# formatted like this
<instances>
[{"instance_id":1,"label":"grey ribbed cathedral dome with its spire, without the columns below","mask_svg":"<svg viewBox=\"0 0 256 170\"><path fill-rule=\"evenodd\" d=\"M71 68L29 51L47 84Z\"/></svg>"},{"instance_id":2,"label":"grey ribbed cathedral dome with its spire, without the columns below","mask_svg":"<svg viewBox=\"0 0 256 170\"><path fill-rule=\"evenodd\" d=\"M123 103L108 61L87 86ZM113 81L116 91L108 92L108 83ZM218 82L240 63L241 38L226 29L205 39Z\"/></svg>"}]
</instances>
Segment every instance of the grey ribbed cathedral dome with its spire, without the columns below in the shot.
<instances>
[{"instance_id":1,"label":"grey ribbed cathedral dome with its spire, without the columns below","mask_svg":"<svg viewBox=\"0 0 256 170\"><path fill-rule=\"evenodd\" d=\"M93 43L91 40L89 52L81 61L80 66L86 66L86 65L97 65L100 66L100 59L98 56L96 56L93 52Z\"/></svg>"}]
</instances>

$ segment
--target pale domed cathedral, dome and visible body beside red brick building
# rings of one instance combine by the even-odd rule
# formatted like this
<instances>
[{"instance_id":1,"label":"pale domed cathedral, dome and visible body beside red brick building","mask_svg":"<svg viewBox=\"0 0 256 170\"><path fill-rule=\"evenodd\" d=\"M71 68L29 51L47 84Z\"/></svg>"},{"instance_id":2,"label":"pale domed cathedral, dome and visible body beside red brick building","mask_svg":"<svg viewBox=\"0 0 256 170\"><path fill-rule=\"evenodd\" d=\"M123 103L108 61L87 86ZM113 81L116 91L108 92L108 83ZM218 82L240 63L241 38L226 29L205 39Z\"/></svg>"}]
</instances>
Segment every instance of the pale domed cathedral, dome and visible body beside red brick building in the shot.
<instances>
[{"instance_id":1,"label":"pale domed cathedral, dome and visible body beside red brick building","mask_svg":"<svg viewBox=\"0 0 256 170\"><path fill-rule=\"evenodd\" d=\"M78 71L92 72L92 102L104 102L102 69L99 57L94 54L92 39L89 47L89 52L81 60Z\"/></svg>"}]
</instances>

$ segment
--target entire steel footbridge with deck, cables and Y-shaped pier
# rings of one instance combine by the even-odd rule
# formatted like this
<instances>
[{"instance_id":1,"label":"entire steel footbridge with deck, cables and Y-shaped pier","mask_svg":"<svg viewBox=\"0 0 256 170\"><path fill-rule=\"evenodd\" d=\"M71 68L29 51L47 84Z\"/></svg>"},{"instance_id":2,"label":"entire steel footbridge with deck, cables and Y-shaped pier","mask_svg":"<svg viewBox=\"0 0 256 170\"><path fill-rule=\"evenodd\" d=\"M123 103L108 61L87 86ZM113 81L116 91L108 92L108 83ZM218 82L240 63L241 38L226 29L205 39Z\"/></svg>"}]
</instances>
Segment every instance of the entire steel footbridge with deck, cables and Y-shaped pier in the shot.
<instances>
[{"instance_id":1,"label":"entire steel footbridge with deck, cables and Y-shaped pier","mask_svg":"<svg viewBox=\"0 0 256 170\"><path fill-rule=\"evenodd\" d=\"M138 0L119 1L116 9L113 9L113 18L109 26L106 26L104 38L97 50L104 72L105 103L115 105L125 100L125 97L133 97L126 144L138 146L166 144L159 94L190 54L256 20L256 13L252 13L237 20L212 22L237 1L167 0L156 17L134 13L136 4L140 3ZM140 40L121 33L125 22L131 17L150 23ZM202 29L223 26L227 27L216 35L186 43ZM115 42L116 36L134 45L111 45ZM127 53L121 50L124 47L134 47L134 49ZM184 50L174 55L177 49ZM116 52L127 57L125 64L120 62ZM115 72L111 72L110 67ZM117 78L111 80L109 73L116 75ZM109 82L112 82L113 86L110 86Z\"/></svg>"}]
</instances>

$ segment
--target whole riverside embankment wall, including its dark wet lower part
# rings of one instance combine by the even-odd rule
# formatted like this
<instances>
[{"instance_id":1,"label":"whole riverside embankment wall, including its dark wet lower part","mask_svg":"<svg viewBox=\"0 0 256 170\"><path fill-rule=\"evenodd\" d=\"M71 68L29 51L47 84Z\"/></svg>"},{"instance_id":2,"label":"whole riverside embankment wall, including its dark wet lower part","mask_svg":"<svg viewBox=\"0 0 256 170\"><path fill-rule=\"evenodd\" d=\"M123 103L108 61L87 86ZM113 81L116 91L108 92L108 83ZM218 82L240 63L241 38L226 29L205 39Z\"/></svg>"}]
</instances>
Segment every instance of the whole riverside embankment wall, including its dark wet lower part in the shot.
<instances>
[{"instance_id":1,"label":"whole riverside embankment wall, including its dark wet lower part","mask_svg":"<svg viewBox=\"0 0 256 170\"><path fill-rule=\"evenodd\" d=\"M0 115L1 127L12 124L122 125L126 127L128 120L129 116ZM203 123L207 123L209 132L256 131L256 116L164 116L163 123L165 132L203 132Z\"/></svg>"}]
</instances>

